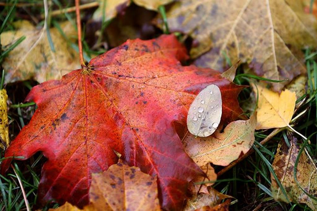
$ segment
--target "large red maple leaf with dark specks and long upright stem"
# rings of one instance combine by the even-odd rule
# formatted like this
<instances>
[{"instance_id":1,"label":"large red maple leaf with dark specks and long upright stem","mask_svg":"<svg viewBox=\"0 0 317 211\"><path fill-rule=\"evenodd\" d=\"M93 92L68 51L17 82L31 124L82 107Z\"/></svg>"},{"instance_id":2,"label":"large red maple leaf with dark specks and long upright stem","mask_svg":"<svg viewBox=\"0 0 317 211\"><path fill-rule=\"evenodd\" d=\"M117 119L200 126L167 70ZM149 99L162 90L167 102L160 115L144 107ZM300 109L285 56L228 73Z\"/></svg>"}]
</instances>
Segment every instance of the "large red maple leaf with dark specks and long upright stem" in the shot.
<instances>
[{"instance_id":1,"label":"large red maple leaf with dark specks and long upright stem","mask_svg":"<svg viewBox=\"0 0 317 211\"><path fill-rule=\"evenodd\" d=\"M38 109L12 141L5 157L25 159L42 151L38 200L88 203L91 173L117 163L116 152L129 165L157 175L162 207L179 209L187 184L201 171L184 152L174 122L186 125L197 93L217 84L223 98L223 121L242 113L237 86L217 71L182 66L186 49L173 35L154 40L128 40L92 59L61 80L35 86L26 98ZM4 173L10 159L3 161Z\"/></svg>"}]
</instances>

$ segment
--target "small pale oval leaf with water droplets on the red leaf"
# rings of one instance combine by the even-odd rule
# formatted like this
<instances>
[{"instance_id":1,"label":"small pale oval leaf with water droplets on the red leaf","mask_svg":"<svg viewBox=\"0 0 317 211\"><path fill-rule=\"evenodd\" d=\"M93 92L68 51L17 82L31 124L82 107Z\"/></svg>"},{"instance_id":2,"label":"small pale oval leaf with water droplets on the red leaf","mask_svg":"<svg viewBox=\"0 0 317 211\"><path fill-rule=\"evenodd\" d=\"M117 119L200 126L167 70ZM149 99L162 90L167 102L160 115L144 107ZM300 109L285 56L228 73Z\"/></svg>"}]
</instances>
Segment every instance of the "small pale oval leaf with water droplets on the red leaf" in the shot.
<instances>
[{"instance_id":1,"label":"small pale oval leaf with water droplets on the red leaf","mask_svg":"<svg viewBox=\"0 0 317 211\"><path fill-rule=\"evenodd\" d=\"M214 133L220 123L222 100L217 85L210 84L199 92L191 103L187 115L188 131L199 137Z\"/></svg>"}]
</instances>

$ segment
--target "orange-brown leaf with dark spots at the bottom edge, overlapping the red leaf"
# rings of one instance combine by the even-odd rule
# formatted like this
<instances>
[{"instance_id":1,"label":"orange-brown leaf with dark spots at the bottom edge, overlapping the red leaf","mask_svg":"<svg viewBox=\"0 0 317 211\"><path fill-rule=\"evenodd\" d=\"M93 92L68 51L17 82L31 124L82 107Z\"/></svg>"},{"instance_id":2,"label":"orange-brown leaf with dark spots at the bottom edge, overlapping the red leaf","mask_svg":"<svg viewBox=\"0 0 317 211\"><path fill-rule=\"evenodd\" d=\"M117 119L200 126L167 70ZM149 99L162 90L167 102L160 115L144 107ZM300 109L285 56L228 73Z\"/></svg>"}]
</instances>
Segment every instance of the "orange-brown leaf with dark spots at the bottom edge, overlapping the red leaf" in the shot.
<instances>
[{"instance_id":1,"label":"orange-brown leaf with dark spots at the bottom edge, overlapping the red leaf","mask_svg":"<svg viewBox=\"0 0 317 211\"><path fill-rule=\"evenodd\" d=\"M90 204L83 210L160 210L156 178L121 160L107 171L92 175L89 198ZM66 203L57 210L80 209Z\"/></svg>"}]
</instances>

